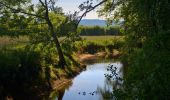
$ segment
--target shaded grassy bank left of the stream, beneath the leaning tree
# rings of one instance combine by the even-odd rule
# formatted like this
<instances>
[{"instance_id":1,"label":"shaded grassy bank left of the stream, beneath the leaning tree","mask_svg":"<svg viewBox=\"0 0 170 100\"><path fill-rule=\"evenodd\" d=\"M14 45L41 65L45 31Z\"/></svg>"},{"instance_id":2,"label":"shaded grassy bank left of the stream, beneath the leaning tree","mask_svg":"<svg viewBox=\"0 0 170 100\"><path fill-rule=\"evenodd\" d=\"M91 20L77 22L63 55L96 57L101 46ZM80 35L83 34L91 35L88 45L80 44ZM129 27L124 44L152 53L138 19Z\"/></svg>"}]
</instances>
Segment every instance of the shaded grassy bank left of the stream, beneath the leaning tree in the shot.
<instances>
[{"instance_id":1,"label":"shaded grassy bank left of the stream, beneath the leaning tree","mask_svg":"<svg viewBox=\"0 0 170 100\"><path fill-rule=\"evenodd\" d=\"M59 84L71 80L85 68L66 59L67 66L62 69L57 64L57 57L44 51L39 52L28 47L1 49L0 99L6 99L8 96L17 100L23 99L22 94L24 97L28 95L39 99L48 94L47 91L51 88L60 88Z\"/></svg>"}]
</instances>

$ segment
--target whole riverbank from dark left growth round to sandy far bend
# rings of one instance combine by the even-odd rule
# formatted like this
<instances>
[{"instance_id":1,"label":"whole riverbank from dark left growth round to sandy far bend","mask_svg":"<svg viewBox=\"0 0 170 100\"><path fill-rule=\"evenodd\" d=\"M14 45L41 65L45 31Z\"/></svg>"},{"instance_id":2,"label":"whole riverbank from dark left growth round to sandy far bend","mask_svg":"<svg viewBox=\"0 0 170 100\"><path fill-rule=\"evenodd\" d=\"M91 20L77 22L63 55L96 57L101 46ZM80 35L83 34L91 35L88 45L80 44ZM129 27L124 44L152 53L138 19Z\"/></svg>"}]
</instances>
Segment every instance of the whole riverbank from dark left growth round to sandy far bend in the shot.
<instances>
[{"instance_id":1,"label":"whole riverbank from dark left growth round to sandy far bend","mask_svg":"<svg viewBox=\"0 0 170 100\"><path fill-rule=\"evenodd\" d=\"M49 96L53 90L62 90L63 87L72 84L72 79L86 69L87 63L120 57L121 53L118 50L121 42L110 39L101 41L102 37L100 41L96 40L96 37L93 38L95 39L74 44L73 55L65 55L68 66L64 69L58 65L55 49L49 49L48 46L44 48L38 44L33 49L30 45L13 42L12 45L6 44L6 48L2 46L0 97L11 96L21 99L20 95L27 95L33 99L40 99ZM49 83L52 89L48 87Z\"/></svg>"}]
</instances>

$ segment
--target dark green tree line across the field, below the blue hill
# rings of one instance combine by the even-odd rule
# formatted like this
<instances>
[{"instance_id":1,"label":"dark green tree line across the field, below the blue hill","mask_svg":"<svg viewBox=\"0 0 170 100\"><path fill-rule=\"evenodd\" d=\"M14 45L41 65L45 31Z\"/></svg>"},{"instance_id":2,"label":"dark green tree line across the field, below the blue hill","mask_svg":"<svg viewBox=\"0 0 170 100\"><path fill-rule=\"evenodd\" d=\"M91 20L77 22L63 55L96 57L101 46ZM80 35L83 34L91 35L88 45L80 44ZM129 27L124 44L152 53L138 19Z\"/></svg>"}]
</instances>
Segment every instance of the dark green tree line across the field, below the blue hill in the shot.
<instances>
[{"instance_id":1,"label":"dark green tree line across the field, below the blue hill","mask_svg":"<svg viewBox=\"0 0 170 100\"><path fill-rule=\"evenodd\" d=\"M121 35L119 26L79 26L78 33L82 36Z\"/></svg>"}]
</instances>

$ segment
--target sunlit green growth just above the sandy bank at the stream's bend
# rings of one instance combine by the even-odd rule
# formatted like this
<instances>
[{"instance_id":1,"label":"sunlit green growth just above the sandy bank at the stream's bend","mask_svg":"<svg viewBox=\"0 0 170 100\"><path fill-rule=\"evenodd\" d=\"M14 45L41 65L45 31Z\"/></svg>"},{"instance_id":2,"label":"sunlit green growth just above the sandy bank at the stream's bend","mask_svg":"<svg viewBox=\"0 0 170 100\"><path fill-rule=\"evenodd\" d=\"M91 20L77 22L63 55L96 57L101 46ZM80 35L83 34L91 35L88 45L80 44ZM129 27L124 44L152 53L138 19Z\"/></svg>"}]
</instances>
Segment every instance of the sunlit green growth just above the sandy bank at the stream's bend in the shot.
<instances>
[{"instance_id":1,"label":"sunlit green growth just above the sandy bank at the stream's bend","mask_svg":"<svg viewBox=\"0 0 170 100\"><path fill-rule=\"evenodd\" d=\"M109 53L113 52L113 49L121 49L124 45L123 37L112 36L109 39L105 36L86 36L82 41L76 41L74 43L75 51L79 53L97 53L101 51L109 50Z\"/></svg>"}]
</instances>

